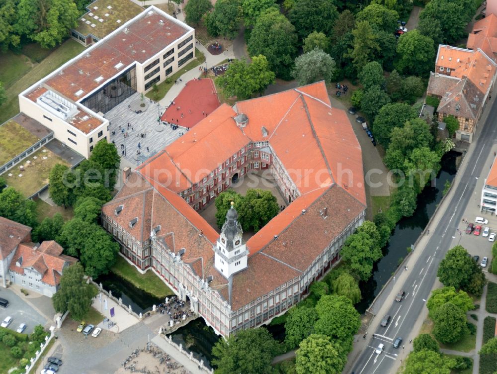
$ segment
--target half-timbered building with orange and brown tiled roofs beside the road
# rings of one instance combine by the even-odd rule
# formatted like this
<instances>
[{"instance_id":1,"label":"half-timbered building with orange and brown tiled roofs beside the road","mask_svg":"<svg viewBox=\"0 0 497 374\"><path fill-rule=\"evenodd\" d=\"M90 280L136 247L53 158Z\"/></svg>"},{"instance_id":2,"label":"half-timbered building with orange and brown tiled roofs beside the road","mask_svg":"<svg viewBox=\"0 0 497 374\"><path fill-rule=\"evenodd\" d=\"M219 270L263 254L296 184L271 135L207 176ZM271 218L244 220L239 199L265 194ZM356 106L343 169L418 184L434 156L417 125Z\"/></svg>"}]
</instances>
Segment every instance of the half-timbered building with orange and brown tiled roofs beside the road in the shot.
<instances>
[{"instance_id":1,"label":"half-timbered building with orange and brown tiled roofs beside the road","mask_svg":"<svg viewBox=\"0 0 497 374\"><path fill-rule=\"evenodd\" d=\"M494 88L497 64L480 48L439 45L435 72L427 94L440 99L438 120L453 115L459 121L456 139L471 143L488 98Z\"/></svg>"}]
</instances>

